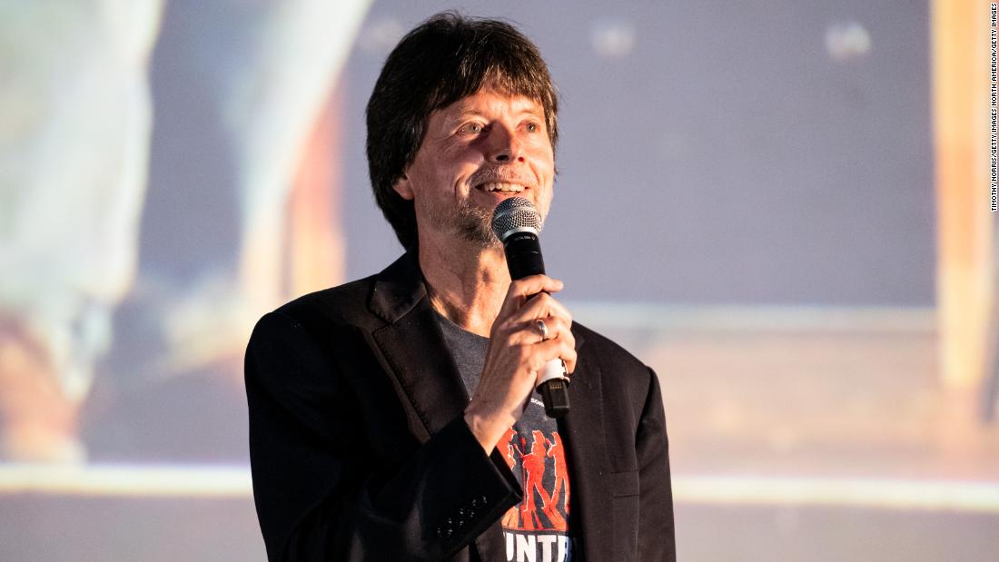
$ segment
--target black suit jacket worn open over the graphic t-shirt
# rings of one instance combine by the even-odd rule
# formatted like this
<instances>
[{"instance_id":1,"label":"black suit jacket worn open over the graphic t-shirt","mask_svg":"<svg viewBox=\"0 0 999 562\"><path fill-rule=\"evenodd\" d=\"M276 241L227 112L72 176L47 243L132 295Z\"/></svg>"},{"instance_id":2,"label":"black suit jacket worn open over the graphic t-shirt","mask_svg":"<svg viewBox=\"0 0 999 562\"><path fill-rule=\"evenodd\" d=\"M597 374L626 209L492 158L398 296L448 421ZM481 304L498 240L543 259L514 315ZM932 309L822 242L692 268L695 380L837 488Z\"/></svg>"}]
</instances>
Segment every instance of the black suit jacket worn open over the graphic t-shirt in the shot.
<instances>
[{"instance_id":1,"label":"black suit jacket worn open over the graphic t-shirt","mask_svg":"<svg viewBox=\"0 0 999 562\"><path fill-rule=\"evenodd\" d=\"M655 373L573 323L559 420L576 560L674 560ZM246 354L254 498L271 560L505 560L521 490L468 393L416 256L263 316Z\"/></svg>"}]
</instances>

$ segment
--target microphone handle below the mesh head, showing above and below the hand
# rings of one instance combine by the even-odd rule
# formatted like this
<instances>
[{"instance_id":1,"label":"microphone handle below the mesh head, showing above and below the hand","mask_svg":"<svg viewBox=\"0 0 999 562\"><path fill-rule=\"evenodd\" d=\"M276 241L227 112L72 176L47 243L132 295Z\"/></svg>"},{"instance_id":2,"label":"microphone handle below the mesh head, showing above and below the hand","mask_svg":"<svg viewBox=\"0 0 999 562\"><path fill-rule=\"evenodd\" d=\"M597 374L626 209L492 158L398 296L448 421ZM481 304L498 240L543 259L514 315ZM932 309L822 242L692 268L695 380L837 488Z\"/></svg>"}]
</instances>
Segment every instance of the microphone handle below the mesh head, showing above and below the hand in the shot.
<instances>
[{"instance_id":1,"label":"microphone handle below the mesh head, showing above and below the hand","mask_svg":"<svg viewBox=\"0 0 999 562\"><path fill-rule=\"evenodd\" d=\"M544 260L541 258L541 245L537 235L523 231L513 233L503 241L506 266L513 280L544 273ZM554 358L544 365L537 392L544 402L544 413L548 417L561 417L568 413L568 371L565 361Z\"/></svg>"}]
</instances>

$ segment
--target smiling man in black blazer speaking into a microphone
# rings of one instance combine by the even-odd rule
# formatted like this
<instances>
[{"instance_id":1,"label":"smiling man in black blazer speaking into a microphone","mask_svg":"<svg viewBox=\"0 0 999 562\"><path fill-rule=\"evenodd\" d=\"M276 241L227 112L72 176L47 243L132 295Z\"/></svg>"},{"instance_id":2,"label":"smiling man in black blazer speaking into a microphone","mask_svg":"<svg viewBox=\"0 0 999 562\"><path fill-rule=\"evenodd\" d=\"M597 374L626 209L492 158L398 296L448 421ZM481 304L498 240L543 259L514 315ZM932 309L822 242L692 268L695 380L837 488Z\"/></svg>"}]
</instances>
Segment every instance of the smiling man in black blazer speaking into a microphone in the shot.
<instances>
[{"instance_id":1,"label":"smiling man in black blazer speaking into a microphone","mask_svg":"<svg viewBox=\"0 0 999 562\"><path fill-rule=\"evenodd\" d=\"M389 56L368 158L407 253L265 315L247 350L271 559L675 558L655 374L573 323L560 281L510 282L490 230L514 195L547 214L556 112L505 23L438 15ZM532 398L555 358L557 423Z\"/></svg>"}]
</instances>

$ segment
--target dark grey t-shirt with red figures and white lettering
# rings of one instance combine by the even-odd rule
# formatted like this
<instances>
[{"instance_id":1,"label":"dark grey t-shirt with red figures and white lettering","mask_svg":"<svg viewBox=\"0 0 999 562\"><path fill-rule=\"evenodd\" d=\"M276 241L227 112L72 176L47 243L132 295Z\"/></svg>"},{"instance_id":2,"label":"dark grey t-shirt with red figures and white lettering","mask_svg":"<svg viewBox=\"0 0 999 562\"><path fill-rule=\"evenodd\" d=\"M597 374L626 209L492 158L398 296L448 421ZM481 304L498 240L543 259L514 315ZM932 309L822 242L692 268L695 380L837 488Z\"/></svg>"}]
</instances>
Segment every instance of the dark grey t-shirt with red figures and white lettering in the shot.
<instances>
[{"instance_id":1,"label":"dark grey t-shirt with red figures and white lettering","mask_svg":"<svg viewBox=\"0 0 999 562\"><path fill-rule=\"evenodd\" d=\"M441 314L438 314L438 322L472 396L479 385L490 340L463 329ZM565 447L555 420L544 414L544 404L536 391L531 394L523 415L506 430L497 448L523 490L523 500L510 507L502 517L506 560L572 560Z\"/></svg>"}]
</instances>

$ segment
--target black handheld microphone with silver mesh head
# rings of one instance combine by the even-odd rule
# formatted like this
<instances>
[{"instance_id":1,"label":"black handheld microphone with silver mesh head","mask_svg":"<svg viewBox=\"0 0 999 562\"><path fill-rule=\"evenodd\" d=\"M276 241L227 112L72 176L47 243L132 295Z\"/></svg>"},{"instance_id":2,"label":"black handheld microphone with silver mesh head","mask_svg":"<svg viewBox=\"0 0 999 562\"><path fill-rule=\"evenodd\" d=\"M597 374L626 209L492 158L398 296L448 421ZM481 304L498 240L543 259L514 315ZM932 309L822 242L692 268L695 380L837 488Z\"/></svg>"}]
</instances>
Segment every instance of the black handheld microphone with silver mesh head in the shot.
<instances>
[{"instance_id":1,"label":"black handheld microphone with silver mesh head","mask_svg":"<svg viewBox=\"0 0 999 562\"><path fill-rule=\"evenodd\" d=\"M544 273L541 245L541 215L527 200L511 197L500 202L493 212L493 233L500 239L506 254L509 277L518 280ZM554 358L544 365L537 391L544 400L548 417L568 413L568 376L565 361Z\"/></svg>"}]
</instances>

